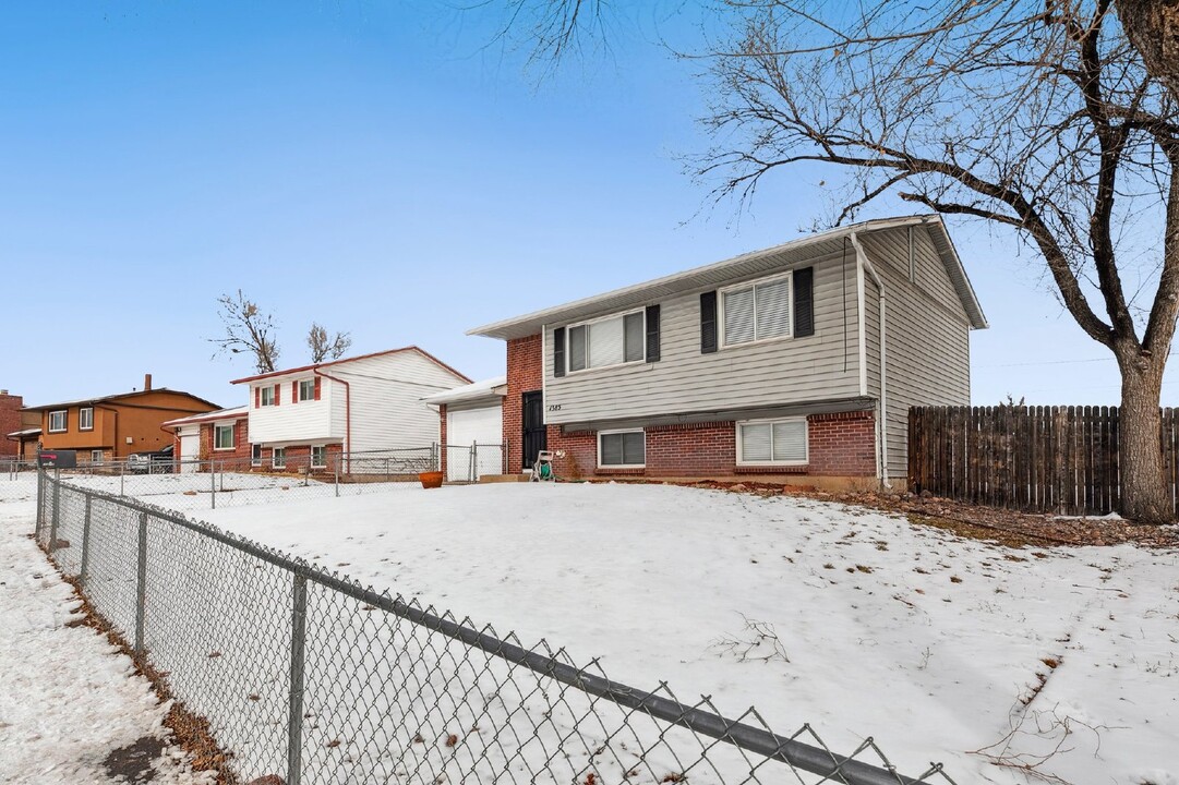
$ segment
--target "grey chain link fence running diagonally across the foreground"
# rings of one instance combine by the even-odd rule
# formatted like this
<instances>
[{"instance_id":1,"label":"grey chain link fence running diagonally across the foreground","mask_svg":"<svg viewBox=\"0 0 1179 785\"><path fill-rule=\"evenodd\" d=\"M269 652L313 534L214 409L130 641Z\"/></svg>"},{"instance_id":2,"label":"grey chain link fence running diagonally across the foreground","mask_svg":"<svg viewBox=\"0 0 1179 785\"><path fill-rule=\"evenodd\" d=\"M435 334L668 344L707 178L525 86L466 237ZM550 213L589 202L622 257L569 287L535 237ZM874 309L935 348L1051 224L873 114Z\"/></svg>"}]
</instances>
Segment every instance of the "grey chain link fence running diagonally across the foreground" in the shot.
<instances>
[{"instance_id":1,"label":"grey chain link fence running diagonally across the foreground","mask_svg":"<svg viewBox=\"0 0 1179 785\"><path fill-rule=\"evenodd\" d=\"M140 500L41 473L37 539L209 720L228 778L301 783L844 783L910 778L867 739L777 734L666 684L364 588Z\"/></svg>"}]
</instances>

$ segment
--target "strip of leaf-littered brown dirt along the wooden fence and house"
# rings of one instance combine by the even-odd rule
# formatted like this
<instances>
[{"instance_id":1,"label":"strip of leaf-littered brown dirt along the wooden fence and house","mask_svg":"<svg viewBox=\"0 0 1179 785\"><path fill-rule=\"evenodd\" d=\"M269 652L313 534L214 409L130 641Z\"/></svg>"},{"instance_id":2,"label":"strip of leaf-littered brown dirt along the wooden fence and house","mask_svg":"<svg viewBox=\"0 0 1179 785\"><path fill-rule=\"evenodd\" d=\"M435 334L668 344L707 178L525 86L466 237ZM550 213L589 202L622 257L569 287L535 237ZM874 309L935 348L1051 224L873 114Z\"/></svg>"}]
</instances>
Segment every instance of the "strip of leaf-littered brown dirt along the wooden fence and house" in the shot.
<instances>
[{"instance_id":1,"label":"strip of leaf-littered brown dirt along the wooden fence and house","mask_svg":"<svg viewBox=\"0 0 1179 785\"><path fill-rule=\"evenodd\" d=\"M931 526L971 540L997 542L1010 548L1049 546L1114 546L1126 542L1146 548L1179 548L1179 526L1138 526L1105 517L1060 519L1052 515L967 504L951 499L911 493L824 493L762 482L687 482L758 496L789 495L817 501L856 504L901 515L918 526Z\"/></svg>"}]
</instances>

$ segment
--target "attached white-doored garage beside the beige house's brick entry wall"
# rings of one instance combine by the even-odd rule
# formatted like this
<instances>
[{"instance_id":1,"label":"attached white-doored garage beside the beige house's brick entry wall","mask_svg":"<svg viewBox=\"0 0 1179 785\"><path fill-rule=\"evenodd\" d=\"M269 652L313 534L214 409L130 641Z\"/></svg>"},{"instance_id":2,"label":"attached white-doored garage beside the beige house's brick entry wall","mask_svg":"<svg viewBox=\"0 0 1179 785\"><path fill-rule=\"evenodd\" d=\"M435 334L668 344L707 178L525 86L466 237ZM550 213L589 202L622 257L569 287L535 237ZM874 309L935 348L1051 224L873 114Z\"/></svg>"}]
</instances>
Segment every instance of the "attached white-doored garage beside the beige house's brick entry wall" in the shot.
<instances>
[{"instance_id":1,"label":"attached white-doored garage beside the beige house's brick entry wall","mask_svg":"<svg viewBox=\"0 0 1179 785\"><path fill-rule=\"evenodd\" d=\"M503 474L503 396L506 376L456 387L427 396L426 403L439 408L442 430L442 470L446 479L475 481L489 474ZM477 449L477 446L485 449Z\"/></svg>"}]
</instances>

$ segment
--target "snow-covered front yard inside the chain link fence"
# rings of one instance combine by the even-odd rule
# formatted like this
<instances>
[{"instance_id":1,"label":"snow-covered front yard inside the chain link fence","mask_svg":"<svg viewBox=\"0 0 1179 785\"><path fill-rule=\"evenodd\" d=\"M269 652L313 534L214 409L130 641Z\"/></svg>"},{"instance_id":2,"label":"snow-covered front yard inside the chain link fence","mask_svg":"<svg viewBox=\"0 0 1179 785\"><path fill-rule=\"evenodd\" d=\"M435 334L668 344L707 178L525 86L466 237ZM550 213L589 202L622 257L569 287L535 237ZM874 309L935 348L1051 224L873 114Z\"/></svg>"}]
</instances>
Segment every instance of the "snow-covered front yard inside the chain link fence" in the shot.
<instances>
[{"instance_id":1,"label":"snow-covered front yard inside the chain link fence","mask_svg":"<svg viewBox=\"0 0 1179 785\"><path fill-rule=\"evenodd\" d=\"M661 486L448 487L199 517L601 655L838 752L960 783L1179 783L1179 554L1020 549L863 509ZM1000 764L1000 765L996 765ZM1058 780L1053 780L1058 781Z\"/></svg>"}]
</instances>

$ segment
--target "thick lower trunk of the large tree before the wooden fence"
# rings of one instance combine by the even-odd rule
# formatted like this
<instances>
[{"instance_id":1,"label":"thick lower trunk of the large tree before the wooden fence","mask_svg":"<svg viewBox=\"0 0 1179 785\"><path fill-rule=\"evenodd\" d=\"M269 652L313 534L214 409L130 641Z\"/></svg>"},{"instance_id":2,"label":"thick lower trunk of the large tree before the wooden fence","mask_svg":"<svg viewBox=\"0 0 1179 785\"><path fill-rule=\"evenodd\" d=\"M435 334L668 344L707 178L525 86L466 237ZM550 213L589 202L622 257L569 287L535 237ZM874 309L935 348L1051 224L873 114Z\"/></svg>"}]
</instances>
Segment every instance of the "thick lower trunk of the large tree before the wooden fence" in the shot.
<instances>
[{"instance_id":1,"label":"thick lower trunk of the large tree before the wooden fence","mask_svg":"<svg viewBox=\"0 0 1179 785\"><path fill-rule=\"evenodd\" d=\"M1118 461L1121 469L1121 515L1134 523L1174 520L1171 489L1162 477L1162 427L1159 394L1162 363L1140 359L1121 369L1118 416Z\"/></svg>"}]
</instances>

